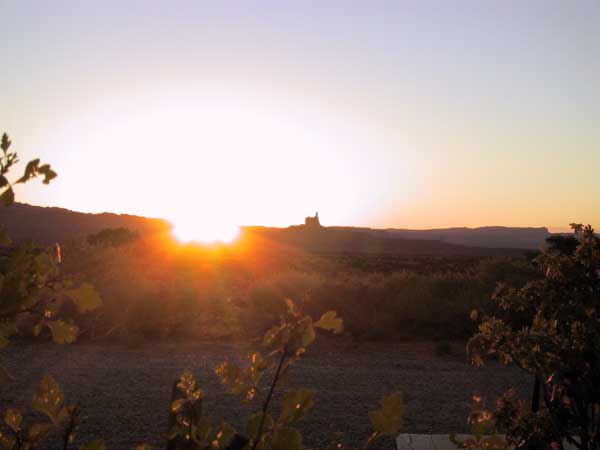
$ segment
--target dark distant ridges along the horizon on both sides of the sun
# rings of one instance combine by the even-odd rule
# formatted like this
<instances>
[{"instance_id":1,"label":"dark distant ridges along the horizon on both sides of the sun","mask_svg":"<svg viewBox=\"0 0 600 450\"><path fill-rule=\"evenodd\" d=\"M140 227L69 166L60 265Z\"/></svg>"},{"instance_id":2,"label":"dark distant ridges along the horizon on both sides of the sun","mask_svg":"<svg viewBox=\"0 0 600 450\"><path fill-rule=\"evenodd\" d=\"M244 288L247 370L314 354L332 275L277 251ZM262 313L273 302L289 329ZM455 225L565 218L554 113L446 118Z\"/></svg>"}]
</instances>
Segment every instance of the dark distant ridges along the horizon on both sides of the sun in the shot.
<instances>
[{"instance_id":1,"label":"dark distant ridges along the horizon on both sides of the sun","mask_svg":"<svg viewBox=\"0 0 600 450\"><path fill-rule=\"evenodd\" d=\"M126 227L142 234L167 232L162 219L128 214L89 214L64 208L16 203L0 208L0 224L16 241L41 244L84 238L104 228ZM550 236L547 228L481 227L432 230L372 229L293 225L287 228L242 227L244 234L318 253L403 255L513 255L536 249Z\"/></svg>"}]
</instances>

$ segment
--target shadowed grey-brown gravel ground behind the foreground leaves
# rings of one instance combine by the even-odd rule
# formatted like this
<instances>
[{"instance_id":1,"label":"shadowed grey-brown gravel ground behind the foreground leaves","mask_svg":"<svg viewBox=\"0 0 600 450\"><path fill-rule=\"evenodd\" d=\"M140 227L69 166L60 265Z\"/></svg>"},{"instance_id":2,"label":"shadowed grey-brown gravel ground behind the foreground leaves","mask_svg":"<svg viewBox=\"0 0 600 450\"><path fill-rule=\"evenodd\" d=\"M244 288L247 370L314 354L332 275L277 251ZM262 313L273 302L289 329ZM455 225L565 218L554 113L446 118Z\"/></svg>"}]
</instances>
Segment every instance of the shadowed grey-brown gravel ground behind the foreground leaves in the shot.
<instances>
[{"instance_id":1,"label":"shadowed grey-brown gravel ground behind the foreground leaves","mask_svg":"<svg viewBox=\"0 0 600 450\"><path fill-rule=\"evenodd\" d=\"M530 380L500 365L482 369L466 363L464 346L453 356L436 356L432 343L361 343L319 339L292 372L283 391L309 387L315 407L300 422L308 448L323 448L336 432L346 447L358 448L370 434L367 412L383 396L400 390L405 399L405 432L466 431L471 396L492 404L509 386L527 395ZM191 369L205 390L204 411L243 429L241 417L257 404L244 405L226 392L213 373L220 361L241 362L251 350L241 343L107 343L9 347L2 362L16 380L0 388L0 409L23 407L42 375L62 385L67 399L79 401L83 420L78 442L102 437L108 449L132 448L140 442L164 446L173 381ZM276 395L275 403L280 400ZM381 444L393 448L392 441Z\"/></svg>"}]
</instances>

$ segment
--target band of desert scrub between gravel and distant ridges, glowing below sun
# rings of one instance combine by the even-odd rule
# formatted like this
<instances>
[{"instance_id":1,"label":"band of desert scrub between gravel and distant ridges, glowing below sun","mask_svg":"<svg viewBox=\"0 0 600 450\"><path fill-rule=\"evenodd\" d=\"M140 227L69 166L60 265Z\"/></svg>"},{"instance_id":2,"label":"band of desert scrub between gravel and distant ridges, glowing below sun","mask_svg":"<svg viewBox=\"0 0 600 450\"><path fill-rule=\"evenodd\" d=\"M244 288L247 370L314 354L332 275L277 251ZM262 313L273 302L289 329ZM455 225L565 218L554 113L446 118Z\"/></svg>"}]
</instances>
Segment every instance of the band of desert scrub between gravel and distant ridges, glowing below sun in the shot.
<instances>
[{"instance_id":1,"label":"band of desert scrub between gravel and distant ridges, glowing below sun","mask_svg":"<svg viewBox=\"0 0 600 450\"><path fill-rule=\"evenodd\" d=\"M314 317L338 311L356 338L467 338L475 331L470 312L498 282L518 287L535 274L523 257L396 258L381 270L365 256L262 243L207 250L156 238L71 243L63 253L65 273L92 282L104 299L101 310L78 319L91 338L256 336L279 321L286 298Z\"/></svg>"}]
</instances>

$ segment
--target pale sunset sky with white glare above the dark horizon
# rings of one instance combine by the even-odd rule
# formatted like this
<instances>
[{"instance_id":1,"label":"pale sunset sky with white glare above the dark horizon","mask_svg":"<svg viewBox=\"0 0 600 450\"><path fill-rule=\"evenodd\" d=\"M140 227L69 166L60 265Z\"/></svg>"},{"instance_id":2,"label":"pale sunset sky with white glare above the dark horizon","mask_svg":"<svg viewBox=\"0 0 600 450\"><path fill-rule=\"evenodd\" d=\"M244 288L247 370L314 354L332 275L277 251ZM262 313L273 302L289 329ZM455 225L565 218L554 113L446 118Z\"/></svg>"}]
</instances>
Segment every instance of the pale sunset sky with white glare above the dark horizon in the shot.
<instances>
[{"instance_id":1,"label":"pale sunset sky with white glare above the dark horizon","mask_svg":"<svg viewBox=\"0 0 600 450\"><path fill-rule=\"evenodd\" d=\"M600 225L600 2L0 0L17 199L188 227Z\"/></svg>"}]
</instances>

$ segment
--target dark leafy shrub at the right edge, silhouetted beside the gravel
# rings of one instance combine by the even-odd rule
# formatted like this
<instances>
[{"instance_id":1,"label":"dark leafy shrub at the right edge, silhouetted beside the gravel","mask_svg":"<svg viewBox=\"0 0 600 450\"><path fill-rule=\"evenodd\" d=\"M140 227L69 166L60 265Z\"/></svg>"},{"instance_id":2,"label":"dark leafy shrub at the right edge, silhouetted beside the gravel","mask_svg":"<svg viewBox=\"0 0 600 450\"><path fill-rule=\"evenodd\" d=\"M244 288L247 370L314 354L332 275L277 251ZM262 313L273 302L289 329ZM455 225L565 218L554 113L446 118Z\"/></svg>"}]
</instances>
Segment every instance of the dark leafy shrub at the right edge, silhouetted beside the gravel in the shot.
<instances>
[{"instance_id":1,"label":"dark leafy shrub at the right edge, silhouetted beside the gravel","mask_svg":"<svg viewBox=\"0 0 600 450\"><path fill-rule=\"evenodd\" d=\"M572 226L577 245L550 242L536 279L499 285L500 313L481 313L469 343L476 364L499 358L535 378L531 405L507 396L499 407L519 448L600 447L600 239L591 226Z\"/></svg>"}]
</instances>

